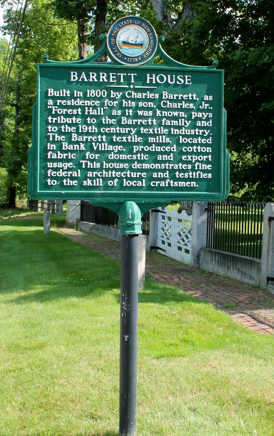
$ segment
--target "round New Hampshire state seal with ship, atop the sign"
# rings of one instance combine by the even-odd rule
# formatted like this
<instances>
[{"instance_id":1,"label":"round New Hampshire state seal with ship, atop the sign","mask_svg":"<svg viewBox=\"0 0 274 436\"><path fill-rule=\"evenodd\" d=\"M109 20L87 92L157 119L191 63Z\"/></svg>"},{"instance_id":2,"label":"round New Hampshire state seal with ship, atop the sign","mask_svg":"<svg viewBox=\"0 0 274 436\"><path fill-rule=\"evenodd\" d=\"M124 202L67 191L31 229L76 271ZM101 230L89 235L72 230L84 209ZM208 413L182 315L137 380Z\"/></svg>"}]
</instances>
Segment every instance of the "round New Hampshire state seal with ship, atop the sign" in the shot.
<instances>
[{"instance_id":1,"label":"round New Hampshire state seal with ship, atop the sign","mask_svg":"<svg viewBox=\"0 0 274 436\"><path fill-rule=\"evenodd\" d=\"M143 18L123 17L110 27L107 47L121 64L144 64L155 54L157 34L153 26Z\"/></svg>"}]
</instances>

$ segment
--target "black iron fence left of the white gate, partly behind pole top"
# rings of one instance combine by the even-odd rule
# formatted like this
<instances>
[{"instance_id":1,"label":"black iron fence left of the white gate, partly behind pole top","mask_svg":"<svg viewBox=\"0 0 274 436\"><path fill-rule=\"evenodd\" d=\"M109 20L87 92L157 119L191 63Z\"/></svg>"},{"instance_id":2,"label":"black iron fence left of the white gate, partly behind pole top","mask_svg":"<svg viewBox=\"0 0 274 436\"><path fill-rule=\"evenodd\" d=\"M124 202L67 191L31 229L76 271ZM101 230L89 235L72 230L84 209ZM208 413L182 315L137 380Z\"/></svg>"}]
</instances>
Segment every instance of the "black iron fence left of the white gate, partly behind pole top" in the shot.
<instances>
[{"instance_id":1,"label":"black iron fence left of the white gate, partly behind pole top","mask_svg":"<svg viewBox=\"0 0 274 436\"><path fill-rule=\"evenodd\" d=\"M118 215L107 208L92 206L89 201L81 201L81 221L105 225L107 227L119 228ZM142 216L142 232L149 235L150 211Z\"/></svg>"}]
</instances>

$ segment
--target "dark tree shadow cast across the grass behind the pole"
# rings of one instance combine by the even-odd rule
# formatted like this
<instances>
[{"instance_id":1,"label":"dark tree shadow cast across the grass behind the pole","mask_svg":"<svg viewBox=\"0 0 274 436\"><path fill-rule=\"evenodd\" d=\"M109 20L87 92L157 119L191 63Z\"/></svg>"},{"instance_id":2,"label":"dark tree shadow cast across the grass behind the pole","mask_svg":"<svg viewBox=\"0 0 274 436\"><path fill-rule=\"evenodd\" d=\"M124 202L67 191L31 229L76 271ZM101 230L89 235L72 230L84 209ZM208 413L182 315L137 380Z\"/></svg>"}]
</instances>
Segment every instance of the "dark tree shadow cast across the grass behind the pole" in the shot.
<instances>
[{"instance_id":1,"label":"dark tree shadow cast across the grass behind the pole","mask_svg":"<svg viewBox=\"0 0 274 436\"><path fill-rule=\"evenodd\" d=\"M16 220L13 226L14 229L0 233L6 266L0 283L2 293L20 292L10 299L10 303L68 297L97 298L106 292L114 293L120 303L120 266L117 262L56 232L44 235L43 228L33 226L33 220ZM8 261L5 260L7 253ZM145 290L139 292L139 303L171 301L204 304L176 286L146 279Z\"/></svg>"}]
</instances>

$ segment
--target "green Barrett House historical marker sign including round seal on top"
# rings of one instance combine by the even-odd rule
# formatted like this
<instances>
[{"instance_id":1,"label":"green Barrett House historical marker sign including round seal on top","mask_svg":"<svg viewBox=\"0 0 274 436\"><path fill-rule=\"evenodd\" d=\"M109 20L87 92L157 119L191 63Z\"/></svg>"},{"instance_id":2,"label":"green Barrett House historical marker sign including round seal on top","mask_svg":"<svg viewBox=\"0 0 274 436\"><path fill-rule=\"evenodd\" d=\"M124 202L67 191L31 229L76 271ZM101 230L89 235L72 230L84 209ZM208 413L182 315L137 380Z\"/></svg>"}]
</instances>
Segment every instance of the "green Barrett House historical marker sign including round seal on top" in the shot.
<instances>
[{"instance_id":1,"label":"green Barrett House historical marker sign including round seal on top","mask_svg":"<svg viewBox=\"0 0 274 436\"><path fill-rule=\"evenodd\" d=\"M37 65L30 196L93 203L227 198L217 61L174 61L139 17L118 20L102 38L90 58L54 62L45 55ZM111 62L95 62L104 51ZM167 65L151 63L157 54Z\"/></svg>"}]
</instances>

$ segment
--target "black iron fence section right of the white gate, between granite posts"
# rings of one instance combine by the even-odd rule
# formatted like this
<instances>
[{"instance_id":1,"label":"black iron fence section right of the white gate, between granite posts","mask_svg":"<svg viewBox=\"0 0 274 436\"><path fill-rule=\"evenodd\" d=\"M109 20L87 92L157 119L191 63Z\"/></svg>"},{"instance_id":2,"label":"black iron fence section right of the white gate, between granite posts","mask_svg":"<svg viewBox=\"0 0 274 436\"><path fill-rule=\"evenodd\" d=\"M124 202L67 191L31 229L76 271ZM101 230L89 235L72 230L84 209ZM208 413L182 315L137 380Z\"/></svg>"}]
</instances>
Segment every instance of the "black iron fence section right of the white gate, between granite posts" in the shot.
<instances>
[{"instance_id":1,"label":"black iron fence section right of the white gate, between granite posts","mask_svg":"<svg viewBox=\"0 0 274 436\"><path fill-rule=\"evenodd\" d=\"M265 203L208 202L207 247L261 259Z\"/></svg>"}]
</instances>

